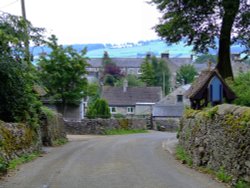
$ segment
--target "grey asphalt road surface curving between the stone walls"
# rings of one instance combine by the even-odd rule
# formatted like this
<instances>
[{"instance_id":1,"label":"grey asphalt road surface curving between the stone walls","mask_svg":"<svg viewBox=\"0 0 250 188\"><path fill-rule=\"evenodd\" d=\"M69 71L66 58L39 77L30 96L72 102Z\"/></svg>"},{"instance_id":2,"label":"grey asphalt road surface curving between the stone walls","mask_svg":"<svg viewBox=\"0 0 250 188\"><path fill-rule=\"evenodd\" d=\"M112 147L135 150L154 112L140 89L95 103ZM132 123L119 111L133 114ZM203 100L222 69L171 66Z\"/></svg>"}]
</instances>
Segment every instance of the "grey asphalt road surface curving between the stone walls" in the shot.
<instances>
[{"instance_id":1,"label":"grey asphalt road surface curving between the stone walls","mask_svg":"<svg viewBox=\"0 0 250 188\"><path fill-rule=\"evenodd\" d=\"M174 133L75 136L24 164L0 188L220 188L162 148Z\"/></svg>"}]
</instances>

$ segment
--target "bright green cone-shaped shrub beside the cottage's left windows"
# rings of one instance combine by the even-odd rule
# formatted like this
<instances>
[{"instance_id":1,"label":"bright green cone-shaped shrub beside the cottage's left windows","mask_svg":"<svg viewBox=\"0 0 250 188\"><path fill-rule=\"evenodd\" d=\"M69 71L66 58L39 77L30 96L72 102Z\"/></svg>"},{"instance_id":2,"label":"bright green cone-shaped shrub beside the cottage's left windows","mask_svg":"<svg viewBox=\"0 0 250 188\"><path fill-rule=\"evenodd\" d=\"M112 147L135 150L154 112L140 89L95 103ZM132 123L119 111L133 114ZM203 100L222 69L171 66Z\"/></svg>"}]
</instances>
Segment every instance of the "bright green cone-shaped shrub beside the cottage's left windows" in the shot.
<instances>
[{"instance_id":1,"label":"bright green cone-shaped shrub beside the cottage's left windows","mask_svg":"<svg viewBox=\"0 0 250 188\"><path fill-rule=\"evenodd\" d=\"M106 100L97 99L93 105L90 105L86 116L90 119L103 118L108 119L111 117L109 106Z\"/></svg>"}]
</instances>

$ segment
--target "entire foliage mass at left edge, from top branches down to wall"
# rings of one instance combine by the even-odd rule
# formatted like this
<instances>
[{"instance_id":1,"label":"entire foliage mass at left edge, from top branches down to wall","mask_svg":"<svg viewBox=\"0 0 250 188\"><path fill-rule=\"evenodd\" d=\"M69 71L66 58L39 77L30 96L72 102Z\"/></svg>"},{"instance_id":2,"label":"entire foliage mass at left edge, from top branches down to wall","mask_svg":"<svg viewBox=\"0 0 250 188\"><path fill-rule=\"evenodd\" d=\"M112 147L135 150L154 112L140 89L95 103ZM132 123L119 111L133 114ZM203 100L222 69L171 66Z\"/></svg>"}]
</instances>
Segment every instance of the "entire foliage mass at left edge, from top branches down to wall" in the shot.
<instances>
[{"instance_id":1,"label":"entire foliage mass at left edge, from top branches down to wall","mask_svg":"<svg viewBox=\"0 0 250 188\"><path fill-rule=\"evenodd\" d=\"M25 59L24 43L27 37L33 44L42 43L42 31L21 17L0 14L1 120L38 125L41 103L33 91L35 69Z\"/></svg>"}]
</instances>

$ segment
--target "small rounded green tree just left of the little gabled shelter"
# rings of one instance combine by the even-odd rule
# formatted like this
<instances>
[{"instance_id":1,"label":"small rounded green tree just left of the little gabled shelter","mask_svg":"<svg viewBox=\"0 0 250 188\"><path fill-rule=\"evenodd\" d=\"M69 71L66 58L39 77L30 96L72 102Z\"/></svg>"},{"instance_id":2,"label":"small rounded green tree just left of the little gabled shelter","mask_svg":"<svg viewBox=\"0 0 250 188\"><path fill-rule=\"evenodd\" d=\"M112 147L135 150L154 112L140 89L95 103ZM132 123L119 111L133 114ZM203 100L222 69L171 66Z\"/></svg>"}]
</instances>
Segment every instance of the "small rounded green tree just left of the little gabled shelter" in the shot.
<instances>
[{"instance_id":1,"label":"small rounded green tree just left of the little gabled shelter","mask_svg":"<svg viewBox=\"0 0 250 188\"><path fill-rule=\"evenodd\" d=\"M193 65L182 65L176 73L176 81L180 84L190 84L197 74Z\"/></svg>"}]
</instances>

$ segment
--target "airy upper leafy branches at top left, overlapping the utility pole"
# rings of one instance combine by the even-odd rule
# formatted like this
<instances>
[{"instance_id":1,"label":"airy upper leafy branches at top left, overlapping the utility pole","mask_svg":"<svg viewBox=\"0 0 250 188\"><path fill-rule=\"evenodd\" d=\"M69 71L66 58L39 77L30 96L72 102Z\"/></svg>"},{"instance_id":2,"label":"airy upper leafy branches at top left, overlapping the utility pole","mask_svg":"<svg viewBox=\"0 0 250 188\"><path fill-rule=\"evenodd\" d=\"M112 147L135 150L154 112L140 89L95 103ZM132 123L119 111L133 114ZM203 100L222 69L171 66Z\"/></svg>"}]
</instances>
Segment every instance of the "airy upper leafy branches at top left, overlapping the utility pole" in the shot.
<instances>
[{"instance_id":1,"label":"airy upper leafy branches at top left, overlapping the utility pole","mask_svg":"<svg viewBox=\"0 0 250 188\"><path fill-rule=\"evenodd\" d=\"M34 46L43 43L43 28L33 27L22 17L7 13L0 14L0 59L27 63L25 42L30 40Z\"/></svg>"}]
</instances>

